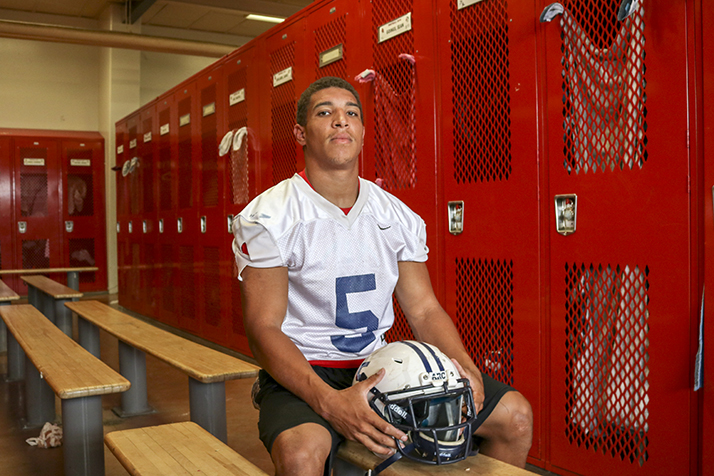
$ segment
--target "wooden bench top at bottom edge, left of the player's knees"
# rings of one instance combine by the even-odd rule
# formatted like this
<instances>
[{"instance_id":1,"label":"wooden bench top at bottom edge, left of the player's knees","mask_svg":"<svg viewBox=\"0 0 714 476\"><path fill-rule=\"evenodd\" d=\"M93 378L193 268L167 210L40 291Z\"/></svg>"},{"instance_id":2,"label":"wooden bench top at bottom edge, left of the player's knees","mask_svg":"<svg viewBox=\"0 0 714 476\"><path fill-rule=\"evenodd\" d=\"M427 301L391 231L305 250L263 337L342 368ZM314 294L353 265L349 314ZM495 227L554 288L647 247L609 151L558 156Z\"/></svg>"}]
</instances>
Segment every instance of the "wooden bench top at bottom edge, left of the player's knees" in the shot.
<instances>
[{"instance_id":1,"label":"wooden bench top at bottom edge, left of the player's knees","mask_svg":"<svg viewBox=\"0 0 714 476\"><path fill-rule=\"evenodd\" d=\"M113 431L104 440L132 476L267 476L193 422Z\"/></svg>"}]
</instances>

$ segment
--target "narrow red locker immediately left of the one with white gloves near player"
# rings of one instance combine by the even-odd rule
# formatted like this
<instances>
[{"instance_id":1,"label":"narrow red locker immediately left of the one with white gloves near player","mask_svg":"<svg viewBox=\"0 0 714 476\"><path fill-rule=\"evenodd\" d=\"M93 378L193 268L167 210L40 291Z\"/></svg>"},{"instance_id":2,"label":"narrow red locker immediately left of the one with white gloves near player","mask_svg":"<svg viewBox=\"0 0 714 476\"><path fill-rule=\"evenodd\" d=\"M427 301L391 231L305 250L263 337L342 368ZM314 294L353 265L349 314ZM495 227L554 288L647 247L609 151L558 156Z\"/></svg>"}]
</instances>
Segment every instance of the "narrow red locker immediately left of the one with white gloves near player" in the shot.
<instances>
[{"instance_id":1,"label":"narrow red locker immediately left of the one with white gloves near player","mask_svg":"<svg viewBox=\"0 0 714 476\"><path fill-rule=\"evenodd\" d=\"M221 345L228 344L228 299L230 292L230 248L225 242L225 157L219 157L219 141L225 132L225 82L223 62L206 68L196 78L200 153L196 162L200 235L197 241L196 275L199 290L197 314L200 335Z\"/></svg>"}]
</instances>

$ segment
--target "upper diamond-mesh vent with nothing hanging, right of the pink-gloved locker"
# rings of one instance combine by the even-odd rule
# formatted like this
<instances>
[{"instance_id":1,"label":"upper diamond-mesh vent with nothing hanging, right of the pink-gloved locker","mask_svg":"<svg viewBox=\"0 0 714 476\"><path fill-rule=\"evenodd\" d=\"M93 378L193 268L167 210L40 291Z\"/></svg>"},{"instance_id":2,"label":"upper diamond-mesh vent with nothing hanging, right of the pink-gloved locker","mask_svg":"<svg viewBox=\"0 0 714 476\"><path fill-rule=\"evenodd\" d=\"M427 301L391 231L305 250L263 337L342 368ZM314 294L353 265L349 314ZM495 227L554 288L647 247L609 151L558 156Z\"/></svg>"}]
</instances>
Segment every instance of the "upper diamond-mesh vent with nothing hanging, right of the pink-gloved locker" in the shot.
<instances>
[{"instance_id":1,"label":"upper diamond-mesh vent with nothing hanging, right of the pink-gloved locker","mask_svg":"<svg viewBox=\"0 0 714 476\"><path fill-rule=\"evenodd\" d=\"M508 180L511 96L506 0L457 10L451 2L454 178Z\"/></svg>"}]
</instances>

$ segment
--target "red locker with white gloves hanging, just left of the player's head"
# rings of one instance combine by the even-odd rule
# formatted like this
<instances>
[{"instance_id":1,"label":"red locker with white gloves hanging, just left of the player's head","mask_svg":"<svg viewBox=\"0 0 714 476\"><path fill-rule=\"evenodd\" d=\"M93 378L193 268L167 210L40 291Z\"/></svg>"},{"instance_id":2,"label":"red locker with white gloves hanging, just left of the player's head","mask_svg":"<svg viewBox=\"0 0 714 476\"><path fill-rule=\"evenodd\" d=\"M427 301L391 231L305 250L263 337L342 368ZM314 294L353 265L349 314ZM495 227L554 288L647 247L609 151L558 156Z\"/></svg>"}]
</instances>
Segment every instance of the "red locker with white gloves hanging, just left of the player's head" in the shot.
<instances>
[{"instance_id":1,"label":"red locker with white gloves hanging, just left of the player's head","mask_svg":"<svg viewBox=\"0 0 714 476\"><path fill-rule=\"evenodd\" d=\"M243 309L240 298L240 282L232 252L233 233L230 224L233 217L258 194L257 171L260 163L260 142L258 137L260 120L260 46L241 48L225 59L222 81L225 82L221 99L226 111L227 127L231 131L231 144L222 157L225 164L224 186L226 190L226 228L222 247L229 253L229 259L221 269L227 276L229 285L228 306L224 311L230 323L228 343L232 349L250 355L248 340L243 327ZM221 138L223 135L220 136Z\"/></svg>"}]
</instances>

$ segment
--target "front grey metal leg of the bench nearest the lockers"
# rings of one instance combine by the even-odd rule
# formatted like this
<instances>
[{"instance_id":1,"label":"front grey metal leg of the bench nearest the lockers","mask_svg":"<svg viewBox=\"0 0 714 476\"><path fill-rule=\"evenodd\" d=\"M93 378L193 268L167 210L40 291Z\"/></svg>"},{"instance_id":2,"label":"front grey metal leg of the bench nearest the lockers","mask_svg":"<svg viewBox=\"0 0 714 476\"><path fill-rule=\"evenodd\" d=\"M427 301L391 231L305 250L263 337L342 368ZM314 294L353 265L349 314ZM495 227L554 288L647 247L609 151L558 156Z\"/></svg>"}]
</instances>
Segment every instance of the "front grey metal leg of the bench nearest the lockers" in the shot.
<instances>
[{"instance_id":1,"label":"front grey metal leg of the bench nearest the lockers","mask_svg":"<svg viewBox=\"0 0 714 476\"><path fill-rule=\"evenodd\" d=\"M227 443L226 383L201 383L193 377L189 377L188 396L191 421L203 427L222 442Z\"/></svg>"}]
</instances>

